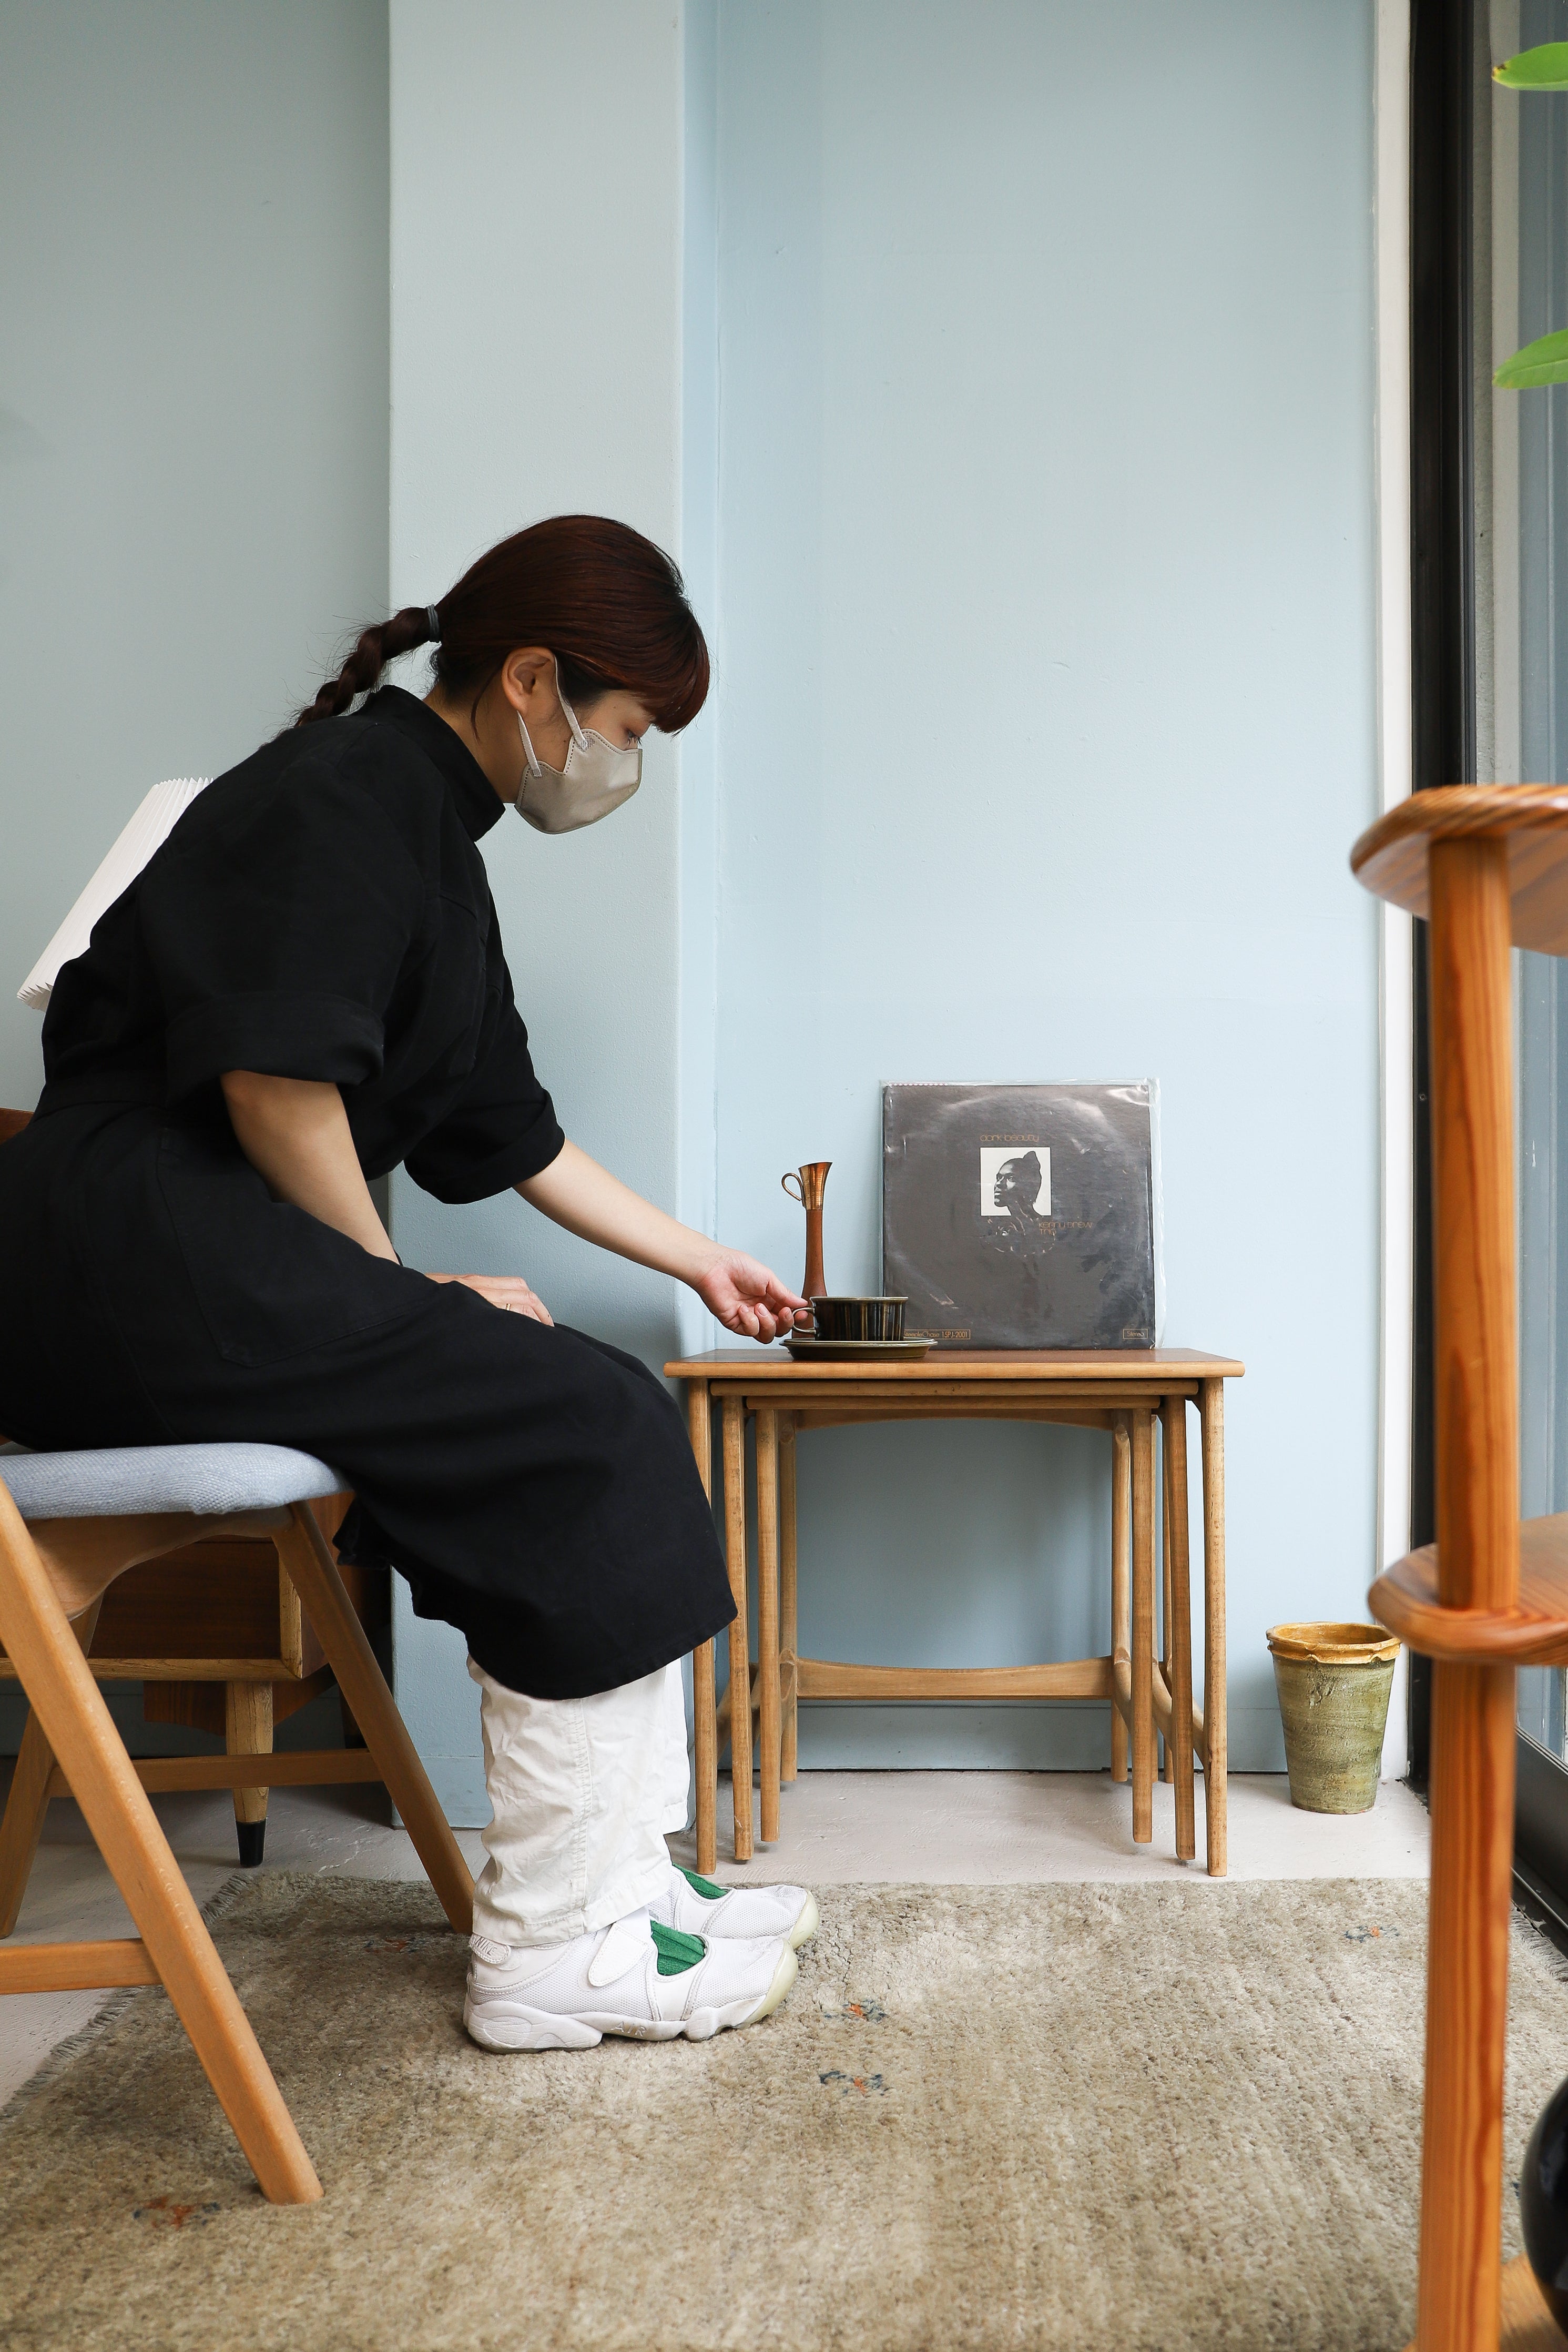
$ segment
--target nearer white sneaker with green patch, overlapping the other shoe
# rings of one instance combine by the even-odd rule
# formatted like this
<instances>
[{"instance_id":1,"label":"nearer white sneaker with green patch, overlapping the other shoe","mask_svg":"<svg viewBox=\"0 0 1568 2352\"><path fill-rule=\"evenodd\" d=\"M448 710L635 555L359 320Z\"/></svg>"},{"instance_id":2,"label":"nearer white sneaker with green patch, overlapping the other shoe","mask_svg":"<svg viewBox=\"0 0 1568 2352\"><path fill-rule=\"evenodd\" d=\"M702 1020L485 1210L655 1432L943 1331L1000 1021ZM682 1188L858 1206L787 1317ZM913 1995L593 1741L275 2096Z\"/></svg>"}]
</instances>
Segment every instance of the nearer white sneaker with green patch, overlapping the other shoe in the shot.
<instances>
[{"instance_id":1,"label":"nearer white sneaker with green patch, overlapping the other shoe","mask_svg":"<svg viewBox=\"0 0 1568 2352\"><path fill-rule=\"evenodd\" d=\"M778 1936L708 1945L646 1912L531 1950L473 1936L463 2025L487 2051L588 2051L604 2034L708 2042L771 2016L795 1976Z\"/></svg>"}]
</instances>

